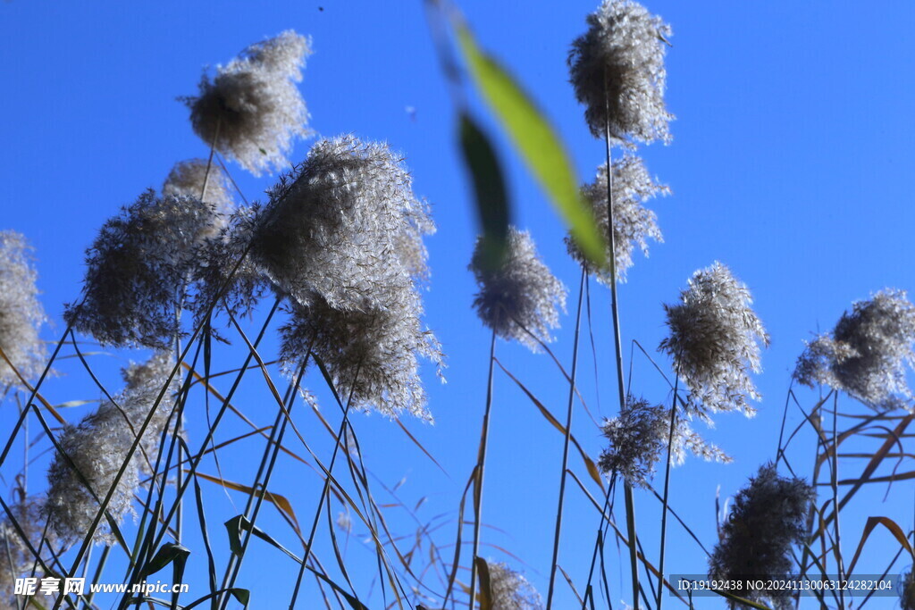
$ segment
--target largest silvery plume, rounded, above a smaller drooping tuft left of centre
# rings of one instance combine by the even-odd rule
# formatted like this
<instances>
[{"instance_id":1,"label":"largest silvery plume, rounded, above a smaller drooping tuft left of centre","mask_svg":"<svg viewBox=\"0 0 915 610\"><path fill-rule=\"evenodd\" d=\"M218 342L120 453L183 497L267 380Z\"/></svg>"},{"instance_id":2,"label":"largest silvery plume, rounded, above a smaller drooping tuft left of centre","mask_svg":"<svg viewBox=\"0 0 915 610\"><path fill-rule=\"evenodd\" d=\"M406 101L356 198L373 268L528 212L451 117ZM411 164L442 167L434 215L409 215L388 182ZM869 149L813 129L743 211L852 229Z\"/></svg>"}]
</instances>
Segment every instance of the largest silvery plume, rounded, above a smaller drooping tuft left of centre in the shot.
<instances>
[{"instance_id":1,"label":"largest silvery plume, rounded, above a smaller drooping tuft left of centre","mask_svg":"<svg viewBox=\"0 0 915 610\"><path fill-rule=\"evenodd\" d=\"M427 274L423 236L435 225L385 144L322 140L280 177L254 220L252 256L300 305L377 308L387 287Z\"/></svg>"}]
</instances>

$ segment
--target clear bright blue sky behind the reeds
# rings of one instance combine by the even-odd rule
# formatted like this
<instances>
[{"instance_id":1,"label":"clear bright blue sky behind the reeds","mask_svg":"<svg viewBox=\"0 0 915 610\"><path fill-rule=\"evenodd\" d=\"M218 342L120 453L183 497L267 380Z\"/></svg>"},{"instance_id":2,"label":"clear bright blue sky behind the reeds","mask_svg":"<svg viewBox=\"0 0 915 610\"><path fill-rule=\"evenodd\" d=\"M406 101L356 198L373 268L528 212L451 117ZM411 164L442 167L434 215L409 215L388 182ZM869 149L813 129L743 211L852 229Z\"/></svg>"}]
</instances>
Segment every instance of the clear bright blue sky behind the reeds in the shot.
<instances>
[{"instance_id":1,"label":"clear bright blue sky behind the reeds","mask_svg":"<svg viewBox=\"0 0 915 610\"><path fill-rule=\"evenodd\" d=\"M748 284L772 337L764 354L765 372L757 378L765 397L759 416L748 421L722 415L708 432L735 463L690 460L674 471L673 506L711 546L716 487L722 496L735 493L774 457L802 340L831 328L856 299L885 286L915 287L909 183L915 163L910 155L915 50L909 42L915 5L656 0L647 6L673 26L667 101L677 119L673 144L654 144L640 154L673 196L651 203L664 243L652 244L647 260L637 256L630 281L621 287L624 343L637 339L668 371L669 364L654 351L665 332L661 304L676 299L695 269L716 260ZM510 67L554 121L579 176L591 179L603 160L603 144L587 132L567 83L565 57L593 3L468 0L460 7L479 41ZM287 28L312 37L315 54L301 85L312 127L324 136L354 133L385 140L403 151L416 192L433 205L438 232L428 241L433 279L425 300L426 322L447 352L448 383L440 386L433 371L425 371L436 425L409 425L450 478L382 417L360 416L355 425L367 459L385 483L406 476L399 492L404 498L429 496L423 508L427 516L451 511L453 517L476 455L488 332L469 306L475 287L466 266L475 220L458 158L454 108L421 3L12 0L0 5L0 14L5 90L0 98L0 141L5 144L0 148L0 228L26 234L36 248L39 286L52 320L48 338L64 327L62 304L79 294L82 254L104 219L145 187L159 187L175 162L207 154L190 130L187 109L176 101L195 93L200 70ZM577 269L565 255L564 230L498 126L471 99L499 144L517 223L532 230L545 261L574 288ZM308 144L297 144L293 160L306 155ZM238 166L230 170L249 199L263 199L261 193L272 184L270 177L247 176ZM596 416L611 416L608 299L605 289L592 288L599 408L587 342L582 386ZM570 309L575 298L570 294ZM563 324L554 348L567 366L574 319L566 316ZM554 412L565 411L567 387L544 355L501 342L498 356ZM106 375L113 380L117 366L129 357L104 360L100 367L110 369ZM629 366L628 348L625 361ZM634 366L640 393L669 400L647 360L636 359ZM68 392L91 391L78 378L74 369L66 379L54 380L53 392L69 400ZM803 391L800 398L809 405L814 394ZM256 411L256 398L250 400ZM844 400L850 410L863 409ZM257 415L264 425L273 418L273 412ZM791 412L789 422L799 421L797 412ZM189 427L193 431L193 421ZM575 431L596 456L601 446L597 429L580 409ZM799 444L803 451L796 455L807 465L812 438L803 442L807 444ZM511 380L497 377L484 510L499 531L487 531L486 541L521 557L527 567L508 561L523 568L544 594L561 446L562 438ZM261 449L252 444L250 451L259 455ZM576 459L572 463L580 472ZM274 479L275 490L290 498L301 491L302 513L309 515L304 520L310 520L310 492L300 487L302 480L316 487L317 477L299 479L287 466ZM849 472L860 467L847 466ZM231 477L244 479L241 471ZM857 519L893 515L909 530L907 487L894 487L886 504L881 503L885 489L874 487L867 495L871 504L853 504L851 514ZM587 571L597 517L581 494L573 490L570 498L561 562L580 578ZM656 521L657 503L648 495L637 501L645 511L640 522ZM213 510L231 517L231 506ZM220 522L214 517L210 528ZM851 553L860 523L852 518L846 523L846 552ZM453 525L447 526L448 536ZM672 531L668 571L705 572L701 551L681 530ZM648 530L645 540L646 548L655 549ZM870 544L877 555L896 551L882 533ZM505 558L494 549L488 554ZM899 564L898 571L903 567ZM269 576L260 565L248 569L253 589L253 583ZM565 586L559 592L566 604L573 599ZM258 594L275 594L271 600L287 596L282 586ZM616 591L614 603L620 598L630 601L625 588Z\"/></svg>"}]
</instances>

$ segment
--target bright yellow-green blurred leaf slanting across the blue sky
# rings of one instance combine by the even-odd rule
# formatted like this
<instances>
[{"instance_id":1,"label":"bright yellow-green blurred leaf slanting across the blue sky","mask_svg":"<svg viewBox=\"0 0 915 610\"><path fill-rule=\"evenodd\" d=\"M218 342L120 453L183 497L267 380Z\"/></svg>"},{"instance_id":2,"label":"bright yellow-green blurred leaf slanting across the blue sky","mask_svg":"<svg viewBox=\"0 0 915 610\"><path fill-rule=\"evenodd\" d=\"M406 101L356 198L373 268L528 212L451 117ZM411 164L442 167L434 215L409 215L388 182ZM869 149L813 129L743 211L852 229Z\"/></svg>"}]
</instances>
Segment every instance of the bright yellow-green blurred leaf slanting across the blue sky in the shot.
<instances>
[{"instance_id":1,"label":"bright yellow-green blurred leaf slanting across the blue sky","mask_svg":"<svg viewBox=\"0 0 915 610\"><path fill-rule=\"evenodd\" d=\"M576 243L591 262L602 266L606 252L604 239L581 197L575 169L553 126L511 74L479 48L468 28L458 23L456 29L461 52L483 98L569 225Z\"/></svg>"}]
</instances>

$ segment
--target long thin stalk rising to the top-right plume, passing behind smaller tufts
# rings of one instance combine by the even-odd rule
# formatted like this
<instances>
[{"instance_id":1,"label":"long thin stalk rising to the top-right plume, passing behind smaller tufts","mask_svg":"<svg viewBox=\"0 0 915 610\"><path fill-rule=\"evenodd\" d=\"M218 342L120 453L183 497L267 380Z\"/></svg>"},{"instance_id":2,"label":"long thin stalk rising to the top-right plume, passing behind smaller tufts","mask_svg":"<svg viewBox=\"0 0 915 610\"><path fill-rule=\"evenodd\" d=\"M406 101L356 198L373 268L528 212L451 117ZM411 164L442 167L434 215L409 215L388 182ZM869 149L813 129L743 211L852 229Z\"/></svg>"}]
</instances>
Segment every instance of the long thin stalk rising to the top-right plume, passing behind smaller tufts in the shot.
<instances>
[{"instance_id":1,"label":"long thin stalk rising to the top-right plume, passing behind smaller tufts","mask_svg":"<svg viewBox=\"0 0 915 610\"><path fill-rule=\"evenodd\" d=\"M610 151L610 99L607 85L607 73L604 73L604 99L607 106L607 117L604 122L604 142L607 145L607 238L609 244L608 265L610 271L610 316L613 322L613 343L616 350L617 384L619 391L619 412L626 409L626 391L623 387L623 352L619 338L619 304L617 301L617 261L616 241L613 235L613 155ZM632 603L639 610L639 555L635 546L635 500L632 487L623 481L623 495L626 499L626 530L630 540L630 568L632 572Z\"/></svg>"}]
</instances>

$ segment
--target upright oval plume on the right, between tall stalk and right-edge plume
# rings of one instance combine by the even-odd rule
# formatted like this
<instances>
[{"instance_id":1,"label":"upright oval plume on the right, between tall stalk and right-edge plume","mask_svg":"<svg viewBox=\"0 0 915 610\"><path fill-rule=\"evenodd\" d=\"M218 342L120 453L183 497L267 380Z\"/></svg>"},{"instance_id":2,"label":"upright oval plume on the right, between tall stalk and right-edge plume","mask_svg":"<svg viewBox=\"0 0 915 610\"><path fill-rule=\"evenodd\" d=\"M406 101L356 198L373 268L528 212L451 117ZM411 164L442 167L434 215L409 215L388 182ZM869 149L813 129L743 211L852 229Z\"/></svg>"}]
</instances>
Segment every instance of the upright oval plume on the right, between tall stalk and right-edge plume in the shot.
<instances>
[{"instance_id":1,"label":"upright oval plume on the right, between tall stalk and right-edge plume","mask_svg":"<svg viewBox=\"0 0 915 610\"><path fill-rule=\"evenodd\" d=\"M710 422L709 412L756 410L747 399L759 400L748 370L762 369L759 344L769 345L745 284L720 262L697 271L681 302L664 305L670 336L659 349L673 358L680 379L690 391L690 412Z\"/></svg>"}]
</instances>

